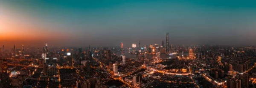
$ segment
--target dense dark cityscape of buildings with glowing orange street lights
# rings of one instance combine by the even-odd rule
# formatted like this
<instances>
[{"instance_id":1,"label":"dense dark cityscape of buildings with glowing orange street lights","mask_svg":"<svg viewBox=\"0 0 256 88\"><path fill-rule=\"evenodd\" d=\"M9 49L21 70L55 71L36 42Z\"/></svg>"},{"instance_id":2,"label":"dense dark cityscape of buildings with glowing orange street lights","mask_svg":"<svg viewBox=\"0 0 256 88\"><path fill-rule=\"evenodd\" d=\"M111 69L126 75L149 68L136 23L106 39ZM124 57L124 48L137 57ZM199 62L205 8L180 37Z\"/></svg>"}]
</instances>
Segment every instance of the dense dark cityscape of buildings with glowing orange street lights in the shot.
<instances>
[{"instance_id":1,"label":"dense dark cityscape of buildings with glowing orange street lights","mask_svg":"<svg viewBox=\"0 0 256 88\"><path fill-rule=\"evenodd\" d=\"M1 87L256 87L256 47L166 47L163 42L161 46L140 46L139 41L139 46L132 44L132 48L46 44L27 50L20 45L20 52L16 46L0 53ZM166 52L166 48L173 51Z\"/></svg>"}]
</instances>

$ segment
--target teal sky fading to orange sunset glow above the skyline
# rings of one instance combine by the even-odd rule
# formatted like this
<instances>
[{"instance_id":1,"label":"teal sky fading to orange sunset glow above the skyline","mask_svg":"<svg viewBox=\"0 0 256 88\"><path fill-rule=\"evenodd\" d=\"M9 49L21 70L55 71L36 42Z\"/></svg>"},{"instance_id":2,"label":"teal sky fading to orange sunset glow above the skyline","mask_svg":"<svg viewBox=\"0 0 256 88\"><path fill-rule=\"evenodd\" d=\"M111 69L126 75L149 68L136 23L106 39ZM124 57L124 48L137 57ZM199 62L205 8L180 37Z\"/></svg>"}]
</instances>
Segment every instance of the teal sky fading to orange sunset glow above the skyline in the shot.
<instances>
[{"instance_id":1,"label":"teal sky fading to orange sunset glow above the skyline","mask_svg":"<svg viewBox=\"0 0 256 88\"><path fill-rule=\"evenodd\" d=\"M256 45L255 0L0 0L0 45Z\"/></svg>"}]
</instances>

